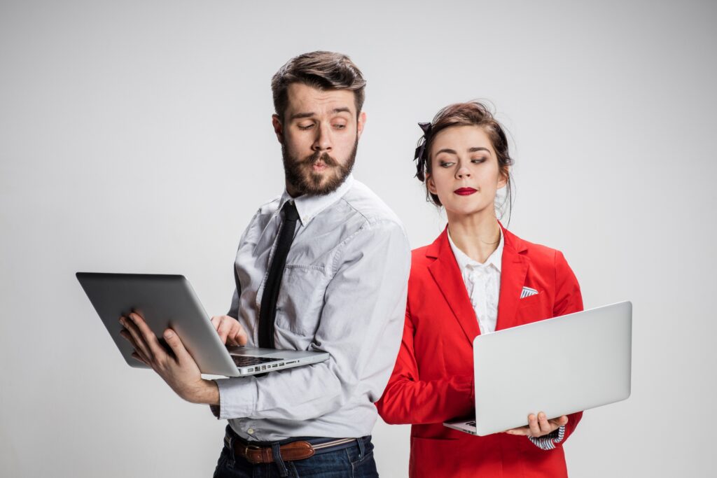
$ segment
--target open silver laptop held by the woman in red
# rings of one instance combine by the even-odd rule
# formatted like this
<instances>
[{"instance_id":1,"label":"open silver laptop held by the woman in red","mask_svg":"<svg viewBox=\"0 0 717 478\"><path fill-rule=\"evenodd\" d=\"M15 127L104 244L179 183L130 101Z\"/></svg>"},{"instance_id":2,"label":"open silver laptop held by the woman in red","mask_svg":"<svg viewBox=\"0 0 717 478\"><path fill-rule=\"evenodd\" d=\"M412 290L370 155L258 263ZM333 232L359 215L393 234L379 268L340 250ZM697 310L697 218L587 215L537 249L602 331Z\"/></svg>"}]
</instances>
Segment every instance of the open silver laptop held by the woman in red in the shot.
<instances>
[{"instance_id":1,"label":"open silver laptop held by the woman in red","mask_svg":"<svg viewBox=\"0 0 717 478\"><path fill-rule=\"evenodd\" d=\"M631 302L478 335L475 416L444 425L485 436L625 400L631 353Z\"/></svg>"}]
</instances>

